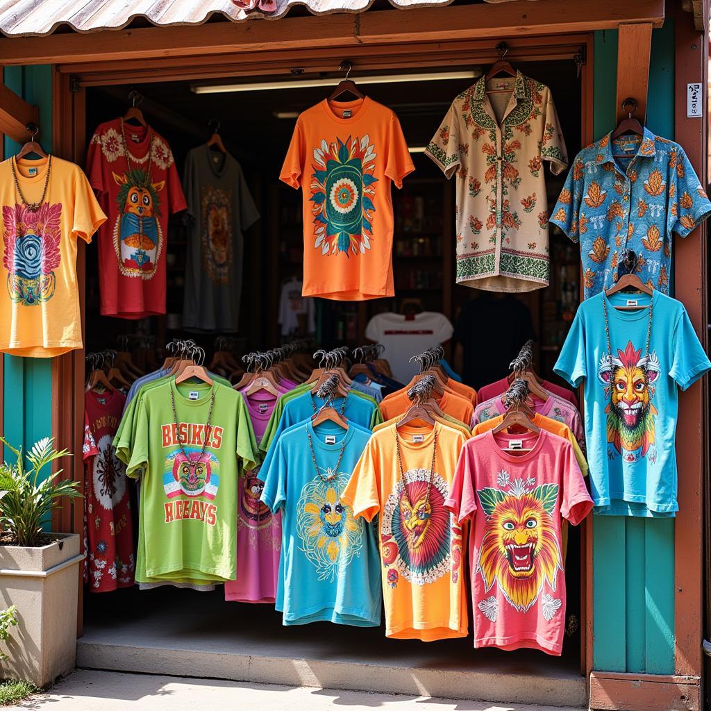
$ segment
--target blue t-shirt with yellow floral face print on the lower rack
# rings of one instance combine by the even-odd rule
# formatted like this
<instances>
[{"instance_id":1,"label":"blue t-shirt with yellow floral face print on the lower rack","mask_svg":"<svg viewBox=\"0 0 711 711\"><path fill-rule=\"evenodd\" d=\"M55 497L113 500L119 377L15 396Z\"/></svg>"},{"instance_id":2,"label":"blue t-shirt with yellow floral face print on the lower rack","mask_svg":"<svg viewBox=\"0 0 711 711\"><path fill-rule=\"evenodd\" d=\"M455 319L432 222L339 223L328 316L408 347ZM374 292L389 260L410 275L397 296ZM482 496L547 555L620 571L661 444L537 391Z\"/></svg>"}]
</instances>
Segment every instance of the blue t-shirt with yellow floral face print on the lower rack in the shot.
<instances>
[{"instance_id":1,"label":"blue t-shirt with yellow floral face print on the lower rack","mask_svg":"<svg viewBox=\"0 0 711 711\"><path fill-rule=\"evenodd\" d=\"M314 459L309 439L314 447ZM274 442L262 501L282 510L276 607L285 625L380 624L382 589L375 528L341 502L370 432L332 422L291 427ZM343 456L338 464L341 448ZM264 473L264 465L260 476ZM329 477L334 478L328 480Z\"/></svg>"}]
</instances>

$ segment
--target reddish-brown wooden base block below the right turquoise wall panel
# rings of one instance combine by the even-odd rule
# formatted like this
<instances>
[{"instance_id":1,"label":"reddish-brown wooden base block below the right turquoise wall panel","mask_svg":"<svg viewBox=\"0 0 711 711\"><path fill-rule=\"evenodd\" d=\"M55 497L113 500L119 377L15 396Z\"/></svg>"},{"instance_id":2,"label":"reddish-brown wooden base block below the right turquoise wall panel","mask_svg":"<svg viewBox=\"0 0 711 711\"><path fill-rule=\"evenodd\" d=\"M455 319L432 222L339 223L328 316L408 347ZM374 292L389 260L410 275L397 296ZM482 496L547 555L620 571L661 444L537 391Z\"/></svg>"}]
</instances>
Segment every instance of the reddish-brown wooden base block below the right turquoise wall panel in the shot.
<instances>
[{"instance_id":1,"label":"reddish-brown wooden base block below the right turquoise wall panel","mask_svg":"<svg viewBox=\"0 0 711 711\"><path fill-rule=\"evenodd\" d=\"M697 677L594 671L589 711L699 711L700 689Z\"/></svg>"}]
</instances>

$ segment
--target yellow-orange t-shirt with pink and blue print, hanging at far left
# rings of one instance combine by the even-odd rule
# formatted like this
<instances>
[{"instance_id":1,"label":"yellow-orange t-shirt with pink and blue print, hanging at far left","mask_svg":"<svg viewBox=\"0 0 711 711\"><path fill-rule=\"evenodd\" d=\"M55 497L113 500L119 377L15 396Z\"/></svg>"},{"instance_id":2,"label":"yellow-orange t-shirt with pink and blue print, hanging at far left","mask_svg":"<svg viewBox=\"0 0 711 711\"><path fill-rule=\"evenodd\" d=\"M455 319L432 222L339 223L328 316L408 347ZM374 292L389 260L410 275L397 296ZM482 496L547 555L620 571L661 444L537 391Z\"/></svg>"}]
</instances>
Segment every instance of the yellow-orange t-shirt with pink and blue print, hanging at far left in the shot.
<instances>
[{"instance_id":1,"label":"yellow-orange t-shirt with pink and blue print, hanging at far left","mask_svg":"<svg viewBox=\"0 0 711 711\"><path fill-rule=\"evenodd\" d=\"M0 351L11 355L51 358L82 347L77 239L90 242L106 215L80 167L50 158L51 165L49 158L0 163Z\"/></svg>"}]
</instances>

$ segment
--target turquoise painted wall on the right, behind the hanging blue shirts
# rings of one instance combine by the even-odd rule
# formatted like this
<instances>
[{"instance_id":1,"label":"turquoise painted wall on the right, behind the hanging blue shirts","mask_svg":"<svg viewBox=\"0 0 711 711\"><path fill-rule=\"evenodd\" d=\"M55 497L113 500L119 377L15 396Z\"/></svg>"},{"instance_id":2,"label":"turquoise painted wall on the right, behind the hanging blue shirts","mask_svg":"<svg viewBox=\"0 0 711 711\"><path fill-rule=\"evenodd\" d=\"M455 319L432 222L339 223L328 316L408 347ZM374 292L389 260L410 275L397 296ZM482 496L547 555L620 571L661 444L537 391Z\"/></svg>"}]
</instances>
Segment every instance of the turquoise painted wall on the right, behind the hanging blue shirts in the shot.
<instances>
[{"instance_id":1,"label":"turquoise painted wall on the right, behind the hanging blue shirts","mask_svg":"<svg viewBox=\"0 0 711 711\"><path fill-rule=\"evenodd\" d=\"M594 132L614 128L617 32L595 33ZM647 125L674 137L674 25L652 33ZM593 667L674 673L674 523L596 516L593 538Z\"/></svg>"}]
</instances>

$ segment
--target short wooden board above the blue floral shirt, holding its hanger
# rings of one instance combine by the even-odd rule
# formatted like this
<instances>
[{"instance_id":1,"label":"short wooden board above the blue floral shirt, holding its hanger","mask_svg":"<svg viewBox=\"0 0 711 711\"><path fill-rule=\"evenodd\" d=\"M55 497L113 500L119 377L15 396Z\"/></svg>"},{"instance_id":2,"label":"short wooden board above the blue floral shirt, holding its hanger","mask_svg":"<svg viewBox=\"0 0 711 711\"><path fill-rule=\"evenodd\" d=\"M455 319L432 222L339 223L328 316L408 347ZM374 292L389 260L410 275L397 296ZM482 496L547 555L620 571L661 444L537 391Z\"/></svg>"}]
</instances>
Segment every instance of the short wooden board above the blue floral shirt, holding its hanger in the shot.
<instances>
[{"instance_id":1,"label":"short wooden board above the blue floral shirt, holding its hanger","mask_svg":"<svg viewBox=\"0 0 711 711\"><path fill-rule=\"evenodd\" d=\"M622 102L627 97L631 97L637 102L634 115L641 124L644 124L651 48L651 22L620 25L617 40L617 101L615 109L618 123L628 115L626 111L622 110Z\"/></svg>"}]
</instances>

